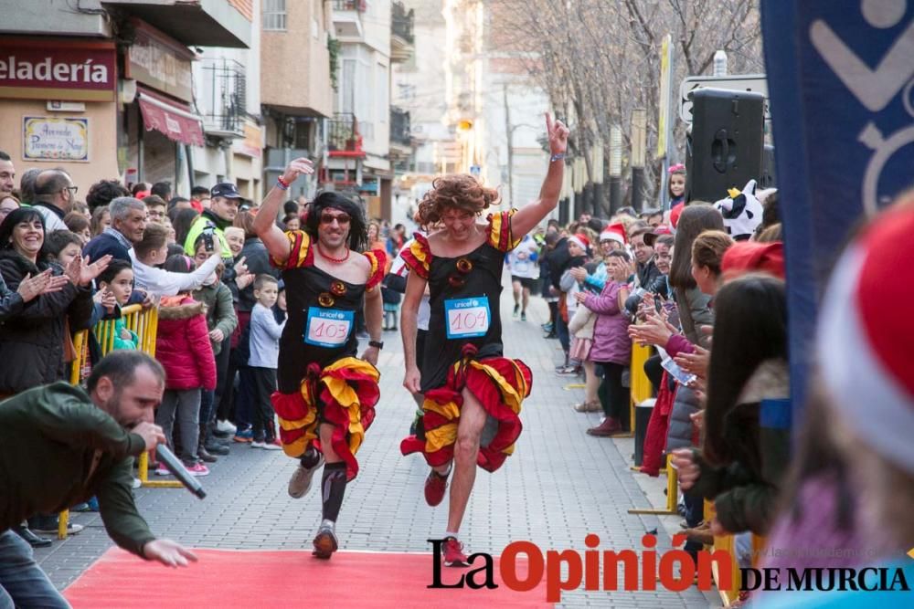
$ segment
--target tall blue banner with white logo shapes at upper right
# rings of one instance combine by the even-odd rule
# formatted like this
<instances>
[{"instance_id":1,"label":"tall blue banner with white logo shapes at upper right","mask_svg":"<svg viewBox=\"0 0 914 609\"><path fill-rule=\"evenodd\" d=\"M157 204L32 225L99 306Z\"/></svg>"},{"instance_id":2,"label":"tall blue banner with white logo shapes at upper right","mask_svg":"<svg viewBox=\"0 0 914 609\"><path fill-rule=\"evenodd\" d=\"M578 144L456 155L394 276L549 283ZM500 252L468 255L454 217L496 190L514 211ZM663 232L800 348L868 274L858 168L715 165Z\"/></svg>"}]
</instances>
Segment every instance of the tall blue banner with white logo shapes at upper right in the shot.
<instances>
[{"instance_id":1,"label":"tall blue banner with white logo shapes at upper right","mask_svg":"<svg viewBox=\"0 0 914 609\"><path fill-rule=\"evenodd\" d=\"M761 18L792 402L802 407L815 311L831 265L856 226L914 184L914 2L763 0Z\"/></svg>"}]
</instances>

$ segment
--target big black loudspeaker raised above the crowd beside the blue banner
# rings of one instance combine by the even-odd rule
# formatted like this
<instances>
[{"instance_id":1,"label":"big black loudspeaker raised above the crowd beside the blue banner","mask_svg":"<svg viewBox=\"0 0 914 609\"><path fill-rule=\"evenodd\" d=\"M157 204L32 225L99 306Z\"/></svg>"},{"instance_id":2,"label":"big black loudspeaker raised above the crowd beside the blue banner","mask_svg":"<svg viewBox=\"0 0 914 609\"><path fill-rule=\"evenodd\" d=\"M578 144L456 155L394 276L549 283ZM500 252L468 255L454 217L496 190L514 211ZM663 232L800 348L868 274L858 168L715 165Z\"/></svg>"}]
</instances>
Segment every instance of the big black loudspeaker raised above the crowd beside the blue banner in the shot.
<instances>
[{"instance_id":1,"label":"big black loudspeaker raised above the crowd beside the blue banner","mask_svg":"<svg viewBox=\"0 0 914 609\"><path fill-rule=\"evenodd\" d=\"M714 202L729 188L759 180L765 128L765 98L760 93L695 89L692 133L686 145L688 200Z\"/></svg>"}]
</instances>

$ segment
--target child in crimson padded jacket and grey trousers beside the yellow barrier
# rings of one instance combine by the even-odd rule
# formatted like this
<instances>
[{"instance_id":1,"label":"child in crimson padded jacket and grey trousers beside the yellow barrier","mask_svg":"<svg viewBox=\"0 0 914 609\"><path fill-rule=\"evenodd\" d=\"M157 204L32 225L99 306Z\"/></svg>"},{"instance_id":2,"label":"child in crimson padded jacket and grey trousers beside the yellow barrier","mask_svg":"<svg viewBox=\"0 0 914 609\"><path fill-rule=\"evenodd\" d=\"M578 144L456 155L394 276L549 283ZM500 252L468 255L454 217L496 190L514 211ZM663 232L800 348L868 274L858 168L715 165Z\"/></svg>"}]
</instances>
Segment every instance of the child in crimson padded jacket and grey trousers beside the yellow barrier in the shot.
<instances>
[{"instance_id":1,"label":"child in crimson padded jacket and grey trousers beside the yellow barrier","mask_svg":"<svg viewBox=\"0 0 914 609\"><path fill-rule=\"evenodd\" d=\"M190 273L194 269L194 261L180 254L175 255L165 261L165 269ZM162 427L168 444L174 446L172 428L176 415L181 433L179 456L184 466L192 476L207 476L209 469L197 453L200 391L216 389L216 362L209 343L206 307L191 298L189 290L162 299L155 337L155 359L165 368L166 378L165 395L155 413L155 424ZM155 473L167 476L168 470L160 464Z\"/></svg>"}]
</instances>

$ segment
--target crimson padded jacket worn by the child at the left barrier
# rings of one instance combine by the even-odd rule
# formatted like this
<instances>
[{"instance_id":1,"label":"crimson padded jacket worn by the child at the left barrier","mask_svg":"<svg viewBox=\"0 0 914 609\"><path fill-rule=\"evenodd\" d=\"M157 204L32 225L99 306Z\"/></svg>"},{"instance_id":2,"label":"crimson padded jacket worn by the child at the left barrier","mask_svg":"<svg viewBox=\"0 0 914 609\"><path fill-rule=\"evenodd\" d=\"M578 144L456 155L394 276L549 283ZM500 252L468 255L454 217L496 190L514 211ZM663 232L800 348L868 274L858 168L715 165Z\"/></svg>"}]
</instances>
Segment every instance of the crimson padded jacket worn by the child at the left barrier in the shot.
<instances>
[{"instance_id":1,"label":"crimson padded jacket worn by the child at the left barrier","mask_svg":"<svg viewBox=\"0 0 914 609\"><path fill-rule=\"evenodd\" d=\"M165 367L165 389L216 389L216 358L202 302L180 294L162 299L155 359Z\"/></svg>"}]
</instances>

